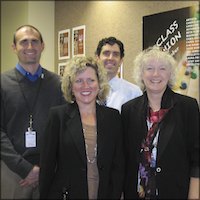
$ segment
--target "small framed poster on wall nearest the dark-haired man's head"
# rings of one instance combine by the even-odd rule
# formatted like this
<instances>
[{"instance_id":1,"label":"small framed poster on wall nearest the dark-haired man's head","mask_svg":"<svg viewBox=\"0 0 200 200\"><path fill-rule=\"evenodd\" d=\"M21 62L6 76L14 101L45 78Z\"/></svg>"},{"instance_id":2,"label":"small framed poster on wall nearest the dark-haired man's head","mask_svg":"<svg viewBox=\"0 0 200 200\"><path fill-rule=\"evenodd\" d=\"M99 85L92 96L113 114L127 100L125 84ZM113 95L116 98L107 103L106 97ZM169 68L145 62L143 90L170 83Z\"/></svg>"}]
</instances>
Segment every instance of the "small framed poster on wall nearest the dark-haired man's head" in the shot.
<instances>
[{"instance_id":1,"label":"small framed poster on wall nearest the dark-haired man's head","mask_svg":"<svg viewBox=\"0 0 200 200\"><path fill-rule=\"evenodd\" d=\"M72 28L72 57L85 56L85 25Z\"/></svg>"}]
</instances>

